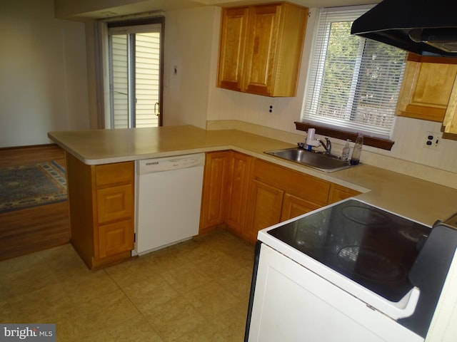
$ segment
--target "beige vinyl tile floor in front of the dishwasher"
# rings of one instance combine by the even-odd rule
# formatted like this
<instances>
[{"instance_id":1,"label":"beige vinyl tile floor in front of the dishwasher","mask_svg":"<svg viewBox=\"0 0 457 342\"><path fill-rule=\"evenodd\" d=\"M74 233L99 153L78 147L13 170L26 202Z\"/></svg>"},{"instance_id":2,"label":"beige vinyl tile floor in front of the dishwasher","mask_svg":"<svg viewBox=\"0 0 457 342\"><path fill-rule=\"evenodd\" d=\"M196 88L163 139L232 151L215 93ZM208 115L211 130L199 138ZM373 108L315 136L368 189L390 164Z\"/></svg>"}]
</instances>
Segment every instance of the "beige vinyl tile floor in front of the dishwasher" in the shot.
<instances>
[{"instance_id":1,"label":"beige vinyl tile floor in front of the dishwasher","mask_svg":"<svg viewBox=\"0 0 457 342\"><path fill-rule=\"evenodd\" d=\"M253 247L224 230L89 271L71 245L0 262L0 322L56 341L243 341Z\"/></svg>"}]
</instances>

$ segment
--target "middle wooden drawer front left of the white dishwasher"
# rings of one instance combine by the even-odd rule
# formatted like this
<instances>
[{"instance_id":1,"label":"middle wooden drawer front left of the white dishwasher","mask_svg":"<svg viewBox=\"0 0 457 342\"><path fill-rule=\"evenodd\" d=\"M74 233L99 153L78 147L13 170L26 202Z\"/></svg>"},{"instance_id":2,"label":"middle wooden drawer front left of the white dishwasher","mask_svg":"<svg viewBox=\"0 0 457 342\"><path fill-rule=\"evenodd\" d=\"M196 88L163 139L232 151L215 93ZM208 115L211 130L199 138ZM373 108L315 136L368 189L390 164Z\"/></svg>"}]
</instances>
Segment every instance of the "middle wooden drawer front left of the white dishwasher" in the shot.
<instances>
[{"instance_id":1,"label":"middle wooden drawer front left of the white dishwasher","mask_svg":"<svg viewBox=\"0 0 457 342\"><path fill-rule=\"evenodd\" d=\"M133 214L133 188L132 185L119 185L97 190L98 222L124 219Z\"/></svg>"}]
</instances>

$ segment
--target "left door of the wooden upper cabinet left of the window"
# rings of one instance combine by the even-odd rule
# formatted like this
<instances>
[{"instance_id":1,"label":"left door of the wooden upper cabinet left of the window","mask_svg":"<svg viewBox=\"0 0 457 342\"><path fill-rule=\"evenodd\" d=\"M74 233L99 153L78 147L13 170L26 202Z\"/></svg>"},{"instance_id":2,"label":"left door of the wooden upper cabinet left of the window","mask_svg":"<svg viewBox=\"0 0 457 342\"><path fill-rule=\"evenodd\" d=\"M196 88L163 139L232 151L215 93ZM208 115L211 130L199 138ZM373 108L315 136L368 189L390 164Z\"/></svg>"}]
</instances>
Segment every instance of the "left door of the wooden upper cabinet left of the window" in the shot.
<instances>
[{"instance_id":1,"label":"left door of the wooden upper cabinet left of the window","mask_svg":"<svg viewBox=\"0 0 457 342\"><path fill-rule=\"evenodd\" d=\"M223 9L219 42L218 87L241 91L248 7Z\"/></svg>"}]
</instances>

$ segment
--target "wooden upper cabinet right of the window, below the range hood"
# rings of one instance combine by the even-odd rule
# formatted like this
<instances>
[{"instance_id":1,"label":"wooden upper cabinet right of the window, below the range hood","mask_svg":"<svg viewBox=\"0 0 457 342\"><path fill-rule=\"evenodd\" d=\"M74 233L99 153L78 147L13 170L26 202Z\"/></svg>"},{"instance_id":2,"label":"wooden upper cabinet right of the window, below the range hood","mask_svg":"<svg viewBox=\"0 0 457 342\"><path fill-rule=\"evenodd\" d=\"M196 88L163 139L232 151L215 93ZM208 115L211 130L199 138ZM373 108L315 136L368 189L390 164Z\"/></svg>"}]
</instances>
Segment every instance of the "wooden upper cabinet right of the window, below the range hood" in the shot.
<instances>
[{"instance_id":1,"label":"wooden upper cabinet right of the window, below the range hood","mask_svg":"<svg viewBox=\"0 0 457 342\"><path fill-rule=\"evenodd\" d=\"M443 122L456 80L457 64L435 63L439 61L443 59L408 55L397 115Z\"/></svg>"}]
</instances>

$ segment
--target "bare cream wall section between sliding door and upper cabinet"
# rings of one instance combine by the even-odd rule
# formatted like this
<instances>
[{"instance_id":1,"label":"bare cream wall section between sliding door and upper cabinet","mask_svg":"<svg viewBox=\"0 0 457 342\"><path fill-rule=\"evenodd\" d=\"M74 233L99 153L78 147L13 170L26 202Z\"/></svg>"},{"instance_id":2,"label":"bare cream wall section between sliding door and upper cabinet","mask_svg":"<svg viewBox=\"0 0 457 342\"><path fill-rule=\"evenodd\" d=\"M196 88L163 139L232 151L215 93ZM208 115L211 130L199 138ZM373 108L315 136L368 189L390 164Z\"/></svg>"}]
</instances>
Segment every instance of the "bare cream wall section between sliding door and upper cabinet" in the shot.
<instances>
[{"instance_id":1,"label":"bare cream wall section between sliding door and upper cabinet","mask_svg":"<svg viewBox=\"0 0 457 342\"><path fill-rule=\"evenodd\" d=\"M206 128L213 59L215 18L219 9L203 7L166 12L164 40L164 125ZM175 73L176 69L176 73Z\"/></svg>"}]
</instances>

